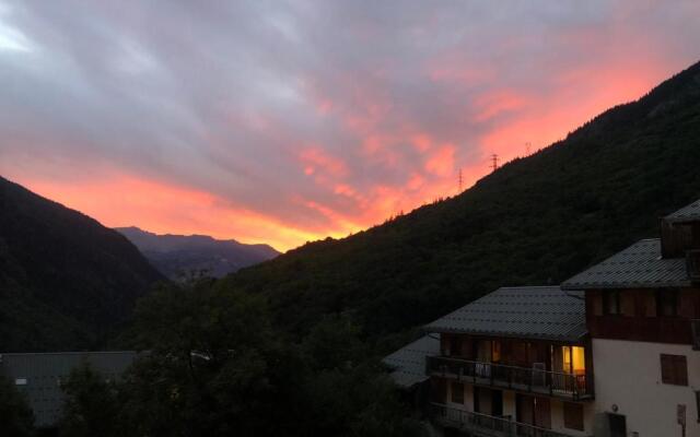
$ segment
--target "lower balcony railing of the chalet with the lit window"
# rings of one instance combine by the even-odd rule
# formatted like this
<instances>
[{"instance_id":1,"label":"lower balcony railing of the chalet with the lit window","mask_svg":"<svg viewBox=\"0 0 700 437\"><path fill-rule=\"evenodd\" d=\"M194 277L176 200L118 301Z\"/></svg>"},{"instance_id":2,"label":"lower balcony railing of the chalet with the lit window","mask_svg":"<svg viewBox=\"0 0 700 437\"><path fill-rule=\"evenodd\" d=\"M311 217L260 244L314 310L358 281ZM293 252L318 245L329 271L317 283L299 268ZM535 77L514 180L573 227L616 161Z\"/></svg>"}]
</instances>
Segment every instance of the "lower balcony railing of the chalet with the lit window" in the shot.
<instances>
[{"instance_id":1,"label":"lower balcony railing of the chalet with the lit window","mask_svg":"<svg viewBox=\"0 0 700 437\"><path fill-rule=\"evenodd\" d=\"M509 417L497 417L487 414L453 409L443 404L431 404L431 417L443 426L464 429L470 434L488 437L572 437L520 422Z\"/></svg>"}]
</instances>

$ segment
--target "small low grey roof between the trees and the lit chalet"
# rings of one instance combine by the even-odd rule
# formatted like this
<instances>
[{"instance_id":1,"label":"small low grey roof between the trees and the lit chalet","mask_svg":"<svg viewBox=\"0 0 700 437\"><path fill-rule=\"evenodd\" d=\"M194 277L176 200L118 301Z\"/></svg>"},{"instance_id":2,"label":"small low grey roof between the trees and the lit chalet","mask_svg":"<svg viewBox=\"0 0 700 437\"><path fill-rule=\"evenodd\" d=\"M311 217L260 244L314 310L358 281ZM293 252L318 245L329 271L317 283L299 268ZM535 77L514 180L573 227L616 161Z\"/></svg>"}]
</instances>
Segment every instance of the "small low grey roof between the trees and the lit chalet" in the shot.
<instances>
[{"instance_id":1,"label":"small low grey roof between the trees and the lit chalet","mask_svg":"<svg viewBox=\"0 0 700 437\"><path fill-rule=\"evenodd\" d=\"M384 357L382 362L394 370L392 371L394 382L408 388L428 379L425 356L435 356L439 353L440 339L425 335Z\"/></svg>"}]
</instances>

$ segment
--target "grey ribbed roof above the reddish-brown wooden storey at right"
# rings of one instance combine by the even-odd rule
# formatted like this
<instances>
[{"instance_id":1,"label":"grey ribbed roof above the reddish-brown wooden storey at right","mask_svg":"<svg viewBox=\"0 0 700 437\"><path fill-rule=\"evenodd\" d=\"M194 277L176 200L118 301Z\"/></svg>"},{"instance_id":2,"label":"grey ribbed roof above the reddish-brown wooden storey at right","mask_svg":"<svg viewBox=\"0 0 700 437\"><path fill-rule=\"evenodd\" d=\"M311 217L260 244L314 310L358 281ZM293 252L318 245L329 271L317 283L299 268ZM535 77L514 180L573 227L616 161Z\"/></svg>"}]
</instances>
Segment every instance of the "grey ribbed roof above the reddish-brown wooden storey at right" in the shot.
<instances>
[{"instance_id":1,"label":"grey ribbed roof above the reddish-brown wooden storey at right","mask_svg":"<svg viewBox=\"0 0 700 437\"><path fill-rule=\"evenodd\" d=\"M563 288L631 288L688 286L686 260L662 259L661 239L643 239L593 265L561 286Z\"/></svg>"}]
</instances>

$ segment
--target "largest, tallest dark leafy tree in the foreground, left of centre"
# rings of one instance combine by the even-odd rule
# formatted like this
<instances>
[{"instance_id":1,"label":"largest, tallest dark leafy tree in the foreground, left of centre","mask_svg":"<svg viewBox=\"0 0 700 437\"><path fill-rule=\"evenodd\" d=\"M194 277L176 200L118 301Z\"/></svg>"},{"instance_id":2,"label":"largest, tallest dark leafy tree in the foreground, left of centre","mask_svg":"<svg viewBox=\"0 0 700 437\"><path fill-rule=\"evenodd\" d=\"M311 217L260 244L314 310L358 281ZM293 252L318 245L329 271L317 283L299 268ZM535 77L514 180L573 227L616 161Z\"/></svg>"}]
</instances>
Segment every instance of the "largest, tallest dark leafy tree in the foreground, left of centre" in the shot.
<instances>
[{"instance_id":1,"label":"largest, tallest dark leafy tree in the foreground, left of centre","mask_svg":"<svg viewBox=\"0 0 700 437\"><path fill-rule=\"evenodd\" d=\"M121 388L135 436L289 435L303 361L265 302L210 279L163 285L136 310L148 350Z\"/></svg>"}]
</instances>

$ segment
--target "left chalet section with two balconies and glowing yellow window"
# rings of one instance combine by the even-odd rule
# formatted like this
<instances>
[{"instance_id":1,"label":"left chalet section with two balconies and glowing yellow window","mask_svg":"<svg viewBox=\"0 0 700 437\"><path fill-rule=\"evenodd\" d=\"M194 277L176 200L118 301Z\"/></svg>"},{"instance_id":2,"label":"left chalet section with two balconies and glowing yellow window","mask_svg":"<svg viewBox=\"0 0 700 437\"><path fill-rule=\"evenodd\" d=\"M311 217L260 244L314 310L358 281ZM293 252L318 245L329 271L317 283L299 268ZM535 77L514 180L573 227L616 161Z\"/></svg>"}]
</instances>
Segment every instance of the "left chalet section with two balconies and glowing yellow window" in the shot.
<instances>
[{"instance_id":1,"label":"left chalet section with two balconies and glowing yellow window","mask_svg":"<svg viewBox=\"0 0 700 437\"><path fill-rule=\"evenodd\" d=\"M445 434L593 434L583 293L499 288L424 329L440 338L440 351L424 358L424 370L431 417Z\"/></svg>"}]
</instances>

